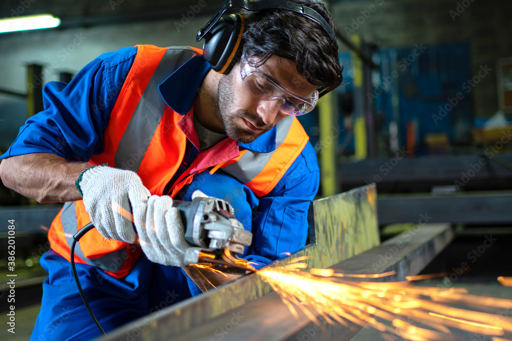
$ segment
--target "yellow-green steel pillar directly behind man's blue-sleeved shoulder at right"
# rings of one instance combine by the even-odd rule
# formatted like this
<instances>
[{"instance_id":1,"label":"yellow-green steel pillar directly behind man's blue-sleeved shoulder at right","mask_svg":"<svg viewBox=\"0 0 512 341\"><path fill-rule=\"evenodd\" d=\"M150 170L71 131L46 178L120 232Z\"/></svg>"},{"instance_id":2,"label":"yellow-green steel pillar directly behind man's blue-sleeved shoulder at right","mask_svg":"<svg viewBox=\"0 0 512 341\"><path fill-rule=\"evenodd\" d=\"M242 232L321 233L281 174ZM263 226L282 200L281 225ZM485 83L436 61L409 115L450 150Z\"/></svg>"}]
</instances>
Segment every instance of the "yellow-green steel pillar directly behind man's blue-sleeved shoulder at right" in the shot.
<instances>
[{"instance_id":1,"label":"yellow-green steel pillar directly behind man's blue-sleeved shoulder at right","mask_svg":"<svg viewBox=\"0 0 512 341\"><path fill-rule=\"evenodd\" d=\"M338 106L336 91L324 95L318 102L318 125L320 128L320 186L324 197L340 191L338 163Z\"/></svg>"}]
</instances>

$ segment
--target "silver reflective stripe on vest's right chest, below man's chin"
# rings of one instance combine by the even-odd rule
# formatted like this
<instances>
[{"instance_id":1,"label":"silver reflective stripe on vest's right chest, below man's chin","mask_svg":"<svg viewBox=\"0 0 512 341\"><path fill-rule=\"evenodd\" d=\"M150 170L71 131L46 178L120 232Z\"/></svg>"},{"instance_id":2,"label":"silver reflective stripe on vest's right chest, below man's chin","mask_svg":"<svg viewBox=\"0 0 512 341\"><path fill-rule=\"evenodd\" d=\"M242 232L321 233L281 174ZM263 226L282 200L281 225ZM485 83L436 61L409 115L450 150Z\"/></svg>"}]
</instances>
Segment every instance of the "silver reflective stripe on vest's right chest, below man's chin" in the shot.
<instances>
[{"instance_id":1,"label":"silver reflective stripe on vest's right chest, below man's chin","mask_svg":"<svg viewBox=\"0 0 512 341\"><path fill-rule=\"evenodd\" d=\"M243 184L247 184L260 174L270 160L270 157L274 154L275 150L283 144L294 119L294 116L287 116L277 124L274 150L268 153L257 153L247 150L245 154L240 157L239 161L223 167L222 170L236 177Z\"/></svg>"}]
</instances>

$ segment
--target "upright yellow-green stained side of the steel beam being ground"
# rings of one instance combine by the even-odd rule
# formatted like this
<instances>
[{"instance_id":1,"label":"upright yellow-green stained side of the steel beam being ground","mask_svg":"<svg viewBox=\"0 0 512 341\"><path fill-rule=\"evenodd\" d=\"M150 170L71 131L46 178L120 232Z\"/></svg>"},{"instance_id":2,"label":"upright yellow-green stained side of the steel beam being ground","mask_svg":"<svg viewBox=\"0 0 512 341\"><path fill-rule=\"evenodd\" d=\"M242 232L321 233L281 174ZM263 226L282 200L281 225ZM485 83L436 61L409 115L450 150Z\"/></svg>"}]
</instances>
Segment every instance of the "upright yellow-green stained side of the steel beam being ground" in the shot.
<instances>
[{"instance_id":1,"label":"upright yellow-green stained side of the steel beam being ground","mask_svg":"<svg viewBox=\"0 0 512 341\"><path fill-rule=\"evenodd\" d=\"M315 243L309 244L291 257L276 261L270 266L287 264L292 259L309 256L309 267L328 267L344 259L365 252L379 244L376 217L375 186L370 185L313 202ZM273 309L273 300L280 301L271 292L268 284L258 275L248 275L237 281L203 293L198 297L180 302L143 319L132 322L109 333L101 340L125 339L187 339L205 325L217 326L216 319L224 319L227 313L258 304L256 301L272 302L265 305L263 313ZM277 309L277 308L276 308ZM276 311L277 312L277 311ZM283 310L285 314L287 310ZM254 314L254 318L261 314ZM234 318L233 316L229 318ZM270 323L273 316L267 320ZM220 320L219 320L220 321ZM247 320L249 321L249 320ZM294 323L293 323L294 324ZM242 326L242 325L241 325ZM261 329L262 326L254 326ZM216 327L218 328L218 327ZM214 329L215 332L215 329ZM216 336L210 338L216 339ZM251 339L239 338L240 339ZM209 339L208 339L209 340Z\"/></svg>"}]
</instances>

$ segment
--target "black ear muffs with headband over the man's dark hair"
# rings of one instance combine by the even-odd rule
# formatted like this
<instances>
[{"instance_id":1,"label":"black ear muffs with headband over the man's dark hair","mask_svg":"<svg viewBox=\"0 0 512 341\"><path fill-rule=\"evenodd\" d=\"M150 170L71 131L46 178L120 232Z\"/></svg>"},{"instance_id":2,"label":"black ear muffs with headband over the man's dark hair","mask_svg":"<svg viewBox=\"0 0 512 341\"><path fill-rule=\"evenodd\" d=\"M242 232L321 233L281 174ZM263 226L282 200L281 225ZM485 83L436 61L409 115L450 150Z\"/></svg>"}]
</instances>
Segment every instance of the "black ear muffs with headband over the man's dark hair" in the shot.
<instances>
[{"instance_id":1,"label":"black ear muffs with headband over the man's dark hair","mask_svg":"<svg viewBox=\"0 0 512 341\"><path fill-rule=\"evenodd\" d=\"M248 2L247 0L227 0L215 15L207 22L204 28L198 30L196 41L205 39L204 58L211 68L218 73L228 73L233 58L241 44L241 35L244 32L244 18L240 14L224 16L232 8L243 8L248 11L261 11L266 9L285 9L301 14L322 26L329 37L335 42L336 38L327 21L313 9L294 4L285 0L260 0Z\"/></svg>"}]
</instances>

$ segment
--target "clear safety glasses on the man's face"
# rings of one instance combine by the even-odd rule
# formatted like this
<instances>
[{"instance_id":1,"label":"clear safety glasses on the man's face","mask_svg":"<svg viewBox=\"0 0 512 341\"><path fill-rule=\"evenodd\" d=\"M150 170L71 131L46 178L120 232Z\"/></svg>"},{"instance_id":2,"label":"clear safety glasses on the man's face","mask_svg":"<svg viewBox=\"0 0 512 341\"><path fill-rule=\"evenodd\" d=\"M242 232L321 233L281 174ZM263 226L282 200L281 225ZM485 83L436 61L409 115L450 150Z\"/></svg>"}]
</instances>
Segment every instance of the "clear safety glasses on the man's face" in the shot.
<instances>
[{"instance_id":1,"label":"clear safety glasses on the man's face","mask_svg":"<svg viewBox=\"0 0 512 341\"><path fill-rule=\"evenodd\" d=\"M255 97L264 101L281 100L280 111L286 115L304 115L313 110L316 102L318 102L318 92L316 90L311 97L292 94L274 80L265 67L251 66L245 56L242 56L240 75L244 87Z\"/></svg>"}]
</instances>

